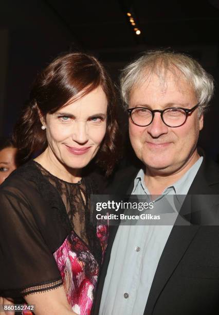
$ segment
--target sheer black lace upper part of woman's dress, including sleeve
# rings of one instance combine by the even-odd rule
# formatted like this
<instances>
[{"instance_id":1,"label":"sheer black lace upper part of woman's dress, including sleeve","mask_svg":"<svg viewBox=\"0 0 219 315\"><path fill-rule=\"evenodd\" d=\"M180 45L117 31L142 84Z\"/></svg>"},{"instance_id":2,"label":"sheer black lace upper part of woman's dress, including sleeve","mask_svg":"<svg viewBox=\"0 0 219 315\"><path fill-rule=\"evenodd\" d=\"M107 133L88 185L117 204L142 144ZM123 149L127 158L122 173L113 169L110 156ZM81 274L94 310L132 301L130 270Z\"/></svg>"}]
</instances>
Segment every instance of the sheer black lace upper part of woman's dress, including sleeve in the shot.
<instances>
[{"instance_id":1,"label":"sheer black lace upper part of woman's dress, including sleeve","mask_svg":"<svg viewBox=\"0 0 219 315\"><path fill-rule=\"evenodd\" d=\"M66 239L85 277L94 282L91 274L99 270L103 251L97 226L89 220L97 178L68 183L30 161L0 186L0 296L16 298L62 285L54 253L57 258Z\"/></svg>"}]
</instances>

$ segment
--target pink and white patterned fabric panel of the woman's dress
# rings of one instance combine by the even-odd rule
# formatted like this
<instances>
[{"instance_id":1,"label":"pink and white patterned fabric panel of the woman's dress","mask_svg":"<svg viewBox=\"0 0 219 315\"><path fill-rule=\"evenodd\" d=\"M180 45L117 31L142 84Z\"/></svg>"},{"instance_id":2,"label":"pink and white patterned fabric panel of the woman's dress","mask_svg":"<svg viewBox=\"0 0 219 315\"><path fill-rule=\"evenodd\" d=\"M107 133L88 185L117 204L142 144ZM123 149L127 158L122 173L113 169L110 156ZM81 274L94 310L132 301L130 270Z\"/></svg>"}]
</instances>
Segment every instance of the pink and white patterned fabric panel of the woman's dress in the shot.
<instances>
[{"instance_id":1,"label":"pink and white patterned fabric panel of the woman's dress","mask_svg":"<svg viewBox=\"0 0 219 315\"><path fill-rule=\"evenodd\" d=\"M97 237L100 240L103 259L107 246L108 226L98 225ZM72 238L74 238L76 248L72 248ZM87 261L93 261L92 270L86 272L87 266L84 260L82 261L78 257L78 252L86 255ZM89 315L99 274L99 265L94 255L74 231L67 236L62 246L53 255L60 270L68 303L72 310L80 315Z\"/></svg>"}]
</instances>

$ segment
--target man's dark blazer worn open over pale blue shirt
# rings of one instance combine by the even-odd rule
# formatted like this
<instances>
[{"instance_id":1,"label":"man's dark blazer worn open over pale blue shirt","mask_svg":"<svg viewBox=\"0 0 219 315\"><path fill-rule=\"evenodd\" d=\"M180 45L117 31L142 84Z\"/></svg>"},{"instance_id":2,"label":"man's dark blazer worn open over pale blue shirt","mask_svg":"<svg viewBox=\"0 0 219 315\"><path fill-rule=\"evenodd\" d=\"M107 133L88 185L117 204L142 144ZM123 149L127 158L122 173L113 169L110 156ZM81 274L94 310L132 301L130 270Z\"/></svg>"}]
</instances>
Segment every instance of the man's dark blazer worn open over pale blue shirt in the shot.
<instances>
[{"instance_id":1,"label":"man's dark blazer worn open over pale blue shirt","mask_svg":"<svg viewBox=\"0 0 219 315\"><path fill-rule=\"evenodd\" d=\"M120 194L130 194L137 171L130 167L118 173L107 194L118 191ZM194 198L191 199L191 195L195 195ZM219 167L204 158L178 216L179 219L182 216L190 220L192 225L173 226L157 266L144 315L219 314L219 226L203 225L201 222L218 224L218 196ZM204 219L200 210L204 211ZM95 315L99 313L117 229L118 226L111 226L93 308Z\"/></svg>"}]
</instances>

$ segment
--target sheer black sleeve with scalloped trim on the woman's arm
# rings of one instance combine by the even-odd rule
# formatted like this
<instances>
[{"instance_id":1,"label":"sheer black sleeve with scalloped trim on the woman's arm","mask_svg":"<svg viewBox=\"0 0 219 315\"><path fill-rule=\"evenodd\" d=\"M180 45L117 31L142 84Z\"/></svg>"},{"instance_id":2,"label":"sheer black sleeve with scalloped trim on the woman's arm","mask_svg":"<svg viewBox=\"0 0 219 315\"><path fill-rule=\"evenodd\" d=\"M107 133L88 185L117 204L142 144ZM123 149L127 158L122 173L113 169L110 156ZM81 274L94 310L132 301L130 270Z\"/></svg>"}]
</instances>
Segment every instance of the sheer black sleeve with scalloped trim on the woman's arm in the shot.
<instances>
[{"instance_id":1,"label":"sheer black sleeve with scalloped trim on the woman's arm","mask_svg":"<svg viewBox=\"0 0 219 315\"><path fill-rule=\"evenodd\" d=\"M17 298L62 285L26 196L20 188L0 188L0 296Z\"/></svg>"}]
</instances>

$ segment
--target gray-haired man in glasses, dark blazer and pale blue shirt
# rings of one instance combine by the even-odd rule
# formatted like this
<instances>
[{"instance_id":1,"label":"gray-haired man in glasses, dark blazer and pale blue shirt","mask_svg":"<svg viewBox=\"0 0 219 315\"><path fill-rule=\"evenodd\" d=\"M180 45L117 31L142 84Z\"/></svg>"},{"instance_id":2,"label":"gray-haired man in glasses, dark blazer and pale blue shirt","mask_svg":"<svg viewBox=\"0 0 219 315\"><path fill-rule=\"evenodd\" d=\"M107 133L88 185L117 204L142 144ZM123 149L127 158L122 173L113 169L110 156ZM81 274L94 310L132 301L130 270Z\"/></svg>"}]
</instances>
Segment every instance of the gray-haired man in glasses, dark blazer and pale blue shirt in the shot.
<instances>
[{"instance_id":1,"label":"gray-haired man in glasses, dark blazer and pale blue shirt","mask_svg":"<svg viewBox=\"0 0 219 315\"><path fill-rule=\"evenodd\" d=\"M186 199L172 226L111 226L94 313L218 314L219 168L196 147L212 78L190 57L150 51L124 69L121 94L143 168L122 170L107 193Z\"/></svg>"}]
</instances>

